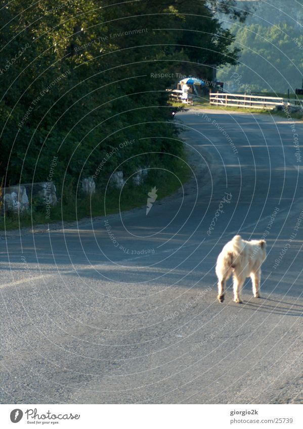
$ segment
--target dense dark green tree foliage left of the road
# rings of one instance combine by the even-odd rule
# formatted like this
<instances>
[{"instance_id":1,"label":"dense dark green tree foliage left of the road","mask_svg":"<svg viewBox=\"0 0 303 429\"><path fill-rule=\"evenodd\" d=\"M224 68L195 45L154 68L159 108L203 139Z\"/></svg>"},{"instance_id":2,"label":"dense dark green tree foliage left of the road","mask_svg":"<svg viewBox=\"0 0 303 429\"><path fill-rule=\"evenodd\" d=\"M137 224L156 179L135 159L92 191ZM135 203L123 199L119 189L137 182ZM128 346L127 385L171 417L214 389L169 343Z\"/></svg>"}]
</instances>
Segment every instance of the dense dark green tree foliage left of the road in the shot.
<instances>
[{"instance_id":1,"label":"dense dark green tree foliage left of the road","mask_svg":"<svg viewBox=\"0 0 303 429\"><path fill-rule=\"evenodd\" d=\"M124 140L135 144L108 159L100 180L121 162L127 174L167 162L134 157L141 153L180 155L165 89L180 80L176 73L209 78L207 65L236 61L234 38L208 2L113 3L3 4L0 174L7 185L47 180L54 156L55 182L76 182Z\"/></svg>"}]
</instances>

